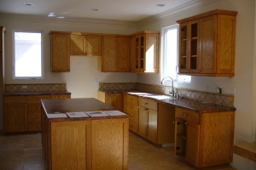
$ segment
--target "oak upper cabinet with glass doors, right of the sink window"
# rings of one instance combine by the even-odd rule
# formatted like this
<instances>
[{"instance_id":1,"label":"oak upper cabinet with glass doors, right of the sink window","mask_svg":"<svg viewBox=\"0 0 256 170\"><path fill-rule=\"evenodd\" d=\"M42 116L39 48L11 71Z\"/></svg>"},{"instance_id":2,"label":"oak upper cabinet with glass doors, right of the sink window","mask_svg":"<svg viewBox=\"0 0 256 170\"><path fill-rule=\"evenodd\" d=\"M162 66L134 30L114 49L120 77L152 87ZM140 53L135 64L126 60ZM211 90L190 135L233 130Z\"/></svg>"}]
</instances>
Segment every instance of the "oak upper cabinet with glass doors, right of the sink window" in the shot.
<instances>
[{"instance_id":1,"label":"oak upper cabinet with glass doors, right of the sink window","mask_svg":"<svg viewBox=\"0 0 256 170\"><path fill-rule=\"evenodd\" d=\"M177 20L180 74L235 76L236 14L216 9Z\"/></svg>"}]
</instances>

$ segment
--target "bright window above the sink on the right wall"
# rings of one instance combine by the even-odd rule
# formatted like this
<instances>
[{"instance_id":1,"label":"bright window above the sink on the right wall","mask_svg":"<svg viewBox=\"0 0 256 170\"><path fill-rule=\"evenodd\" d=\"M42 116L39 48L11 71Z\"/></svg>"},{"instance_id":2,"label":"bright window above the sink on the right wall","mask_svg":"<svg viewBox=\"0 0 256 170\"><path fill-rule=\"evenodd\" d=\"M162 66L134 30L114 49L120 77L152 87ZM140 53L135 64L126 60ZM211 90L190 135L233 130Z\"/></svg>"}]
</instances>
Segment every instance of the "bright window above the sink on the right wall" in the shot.
<instances>
[{"instance_id":1,"label":"bright window above the sink on the right wall","mask_svg":"<svg viewBox=\"0 0 256 170\"><path fill-rule=\"evenodd\" d=\"M190 76L177 74L178 25L163 28L162 75L172 77L176 82L190 82Z\"/></svg>"}]
</instances>

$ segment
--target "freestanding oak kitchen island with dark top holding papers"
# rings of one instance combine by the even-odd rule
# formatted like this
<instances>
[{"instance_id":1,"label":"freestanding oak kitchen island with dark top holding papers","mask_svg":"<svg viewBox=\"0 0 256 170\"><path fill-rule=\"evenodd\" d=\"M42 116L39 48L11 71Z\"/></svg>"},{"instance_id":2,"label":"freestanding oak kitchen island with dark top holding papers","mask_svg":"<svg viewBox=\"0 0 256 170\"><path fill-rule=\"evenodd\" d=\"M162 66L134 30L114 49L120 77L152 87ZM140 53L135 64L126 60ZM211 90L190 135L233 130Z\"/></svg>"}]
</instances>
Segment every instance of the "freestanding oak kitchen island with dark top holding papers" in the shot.
<instances>
[{"instance_id":1,"label":"freestanding oak kitchen island with dark top holding papers","mask_svg":"<svg viewBox=\"0 0 256 170\"><path fill-rule=\"evenodd\" d=\"M47 169L128 169L128 115L67 116L114 111L93 98L42 99L41 104Z\"/></svg>"}]
</instances>

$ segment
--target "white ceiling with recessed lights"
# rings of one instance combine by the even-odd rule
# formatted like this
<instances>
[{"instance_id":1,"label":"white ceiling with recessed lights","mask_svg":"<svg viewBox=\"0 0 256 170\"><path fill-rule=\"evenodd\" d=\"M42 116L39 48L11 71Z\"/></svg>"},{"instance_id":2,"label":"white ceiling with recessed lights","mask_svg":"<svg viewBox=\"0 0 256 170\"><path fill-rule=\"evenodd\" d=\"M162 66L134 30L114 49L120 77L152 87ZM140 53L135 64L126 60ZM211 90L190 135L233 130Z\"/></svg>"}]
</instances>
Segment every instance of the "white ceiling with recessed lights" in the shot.
<instances>
[{"instance_id":1,"label":"white ceiling with recessed lights","mask_svg":"<svg viewBox=\"0 0 256 170\"><path fill-rule=\"evenodd\" d=\"M0 13L137 21L195 1L201 0L0 0Z\"/></svg>"}]
</instances>

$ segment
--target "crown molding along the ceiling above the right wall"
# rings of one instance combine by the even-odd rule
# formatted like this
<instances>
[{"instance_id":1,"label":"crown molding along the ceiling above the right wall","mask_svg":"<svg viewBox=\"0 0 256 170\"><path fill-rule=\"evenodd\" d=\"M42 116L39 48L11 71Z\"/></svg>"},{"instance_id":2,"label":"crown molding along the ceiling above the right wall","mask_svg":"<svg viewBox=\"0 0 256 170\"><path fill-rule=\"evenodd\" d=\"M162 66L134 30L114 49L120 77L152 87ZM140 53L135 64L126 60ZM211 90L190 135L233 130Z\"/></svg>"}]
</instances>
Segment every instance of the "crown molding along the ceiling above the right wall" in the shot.
<instances>
[{"instance_id":1,"label":"crown molding along the ceiling above the right wall","mask_svg":"<svg viewBox=\"0 0 256 170\"><path fill-rule=\"evenodd\" d=\"M137 25L139 26L145 26L150 23L154 23L156 20L161 20L163 18L166 18L168 16L171 16L172 14L178 14L179 12L182 12L185 9L192 8L195 6L206 6L212 3L217 3L220 0L207 0L207 1L201 1L201 0L193 0L189 3L183 3L182 5L177 6L176 8L172 8L170 10L167 10L163 13L156 14L154 16L150 16L146 19L137 21Z\"/></svg>"}]
</instances>

